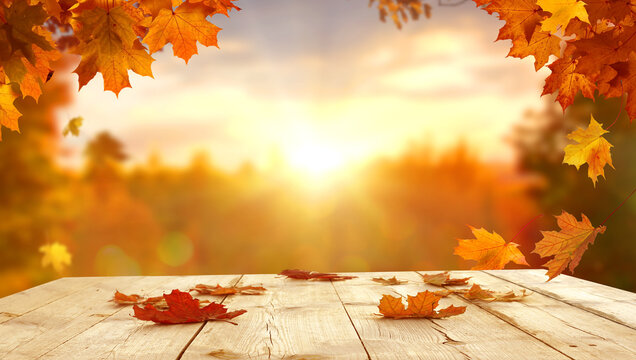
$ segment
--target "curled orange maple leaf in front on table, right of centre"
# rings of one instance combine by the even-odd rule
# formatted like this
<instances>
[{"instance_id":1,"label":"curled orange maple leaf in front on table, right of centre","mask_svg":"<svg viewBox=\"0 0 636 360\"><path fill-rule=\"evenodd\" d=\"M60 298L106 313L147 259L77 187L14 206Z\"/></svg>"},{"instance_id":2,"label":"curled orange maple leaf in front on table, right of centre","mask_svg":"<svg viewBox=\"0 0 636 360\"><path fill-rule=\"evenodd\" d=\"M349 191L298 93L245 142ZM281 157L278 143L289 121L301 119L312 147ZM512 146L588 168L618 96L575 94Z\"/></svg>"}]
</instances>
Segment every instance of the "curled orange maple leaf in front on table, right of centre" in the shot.
<instances>
[{"instance_id":1,"label":"curled orange maple leaf in front on table, right of centre","mask_svg":"<svg viewBox=\"0 0 636 360\"><path fill-rule=\"evenodd\" d=\"M401 297L391 295L382 295L378 309L384 317L394 319L405 318L432 318L439 319L453 315L463 314L466 311L465 306L449 306L444 309L436 310L441 297L430 291L418 293L416 296L408 296L408 307L404 307Z\"/></svg>"}]
</instances>

